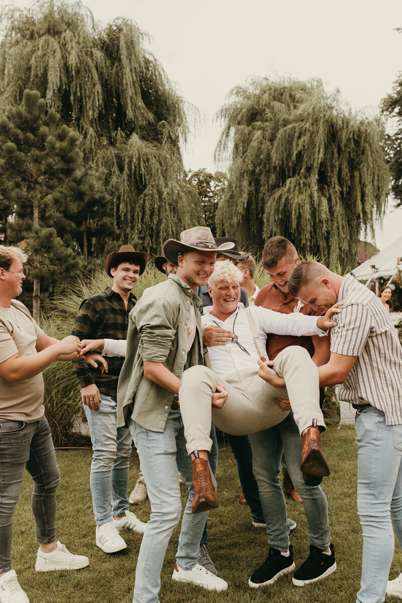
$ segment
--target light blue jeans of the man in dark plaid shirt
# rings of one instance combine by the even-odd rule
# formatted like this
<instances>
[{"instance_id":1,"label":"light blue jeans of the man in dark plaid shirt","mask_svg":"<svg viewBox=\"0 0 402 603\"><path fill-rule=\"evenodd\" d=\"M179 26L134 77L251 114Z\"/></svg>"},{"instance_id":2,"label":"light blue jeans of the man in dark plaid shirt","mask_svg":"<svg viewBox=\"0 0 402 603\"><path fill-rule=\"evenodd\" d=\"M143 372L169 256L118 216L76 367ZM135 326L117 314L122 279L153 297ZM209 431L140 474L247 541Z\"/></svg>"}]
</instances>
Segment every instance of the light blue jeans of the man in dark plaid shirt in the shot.
<instances>
[{"instance_id":1,"label":"light blue jeans of the man in dark plaid shirt","mask_svg":"<svg viewBox=\"0 0 402 603\"><path fill-rule=\"evenodd\" d=\"M84 405L92 440L90 487L98 526L111 522L112 514L122 515L130 507L127 494L130 430L116 427L116 398L104 393L101 398L96 411Z\"/></svg>"}]
</instances>

